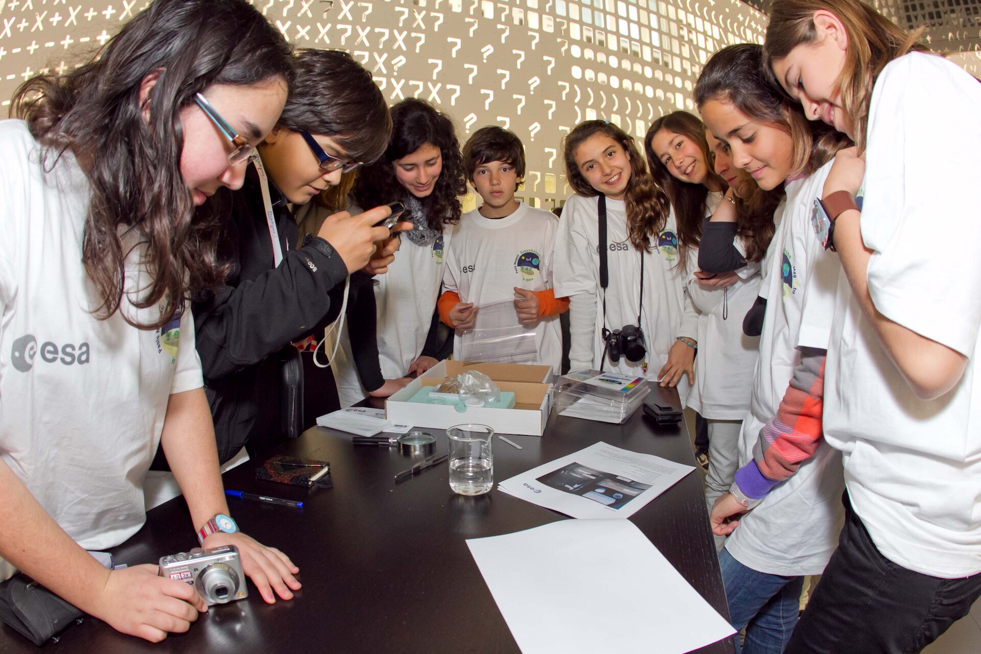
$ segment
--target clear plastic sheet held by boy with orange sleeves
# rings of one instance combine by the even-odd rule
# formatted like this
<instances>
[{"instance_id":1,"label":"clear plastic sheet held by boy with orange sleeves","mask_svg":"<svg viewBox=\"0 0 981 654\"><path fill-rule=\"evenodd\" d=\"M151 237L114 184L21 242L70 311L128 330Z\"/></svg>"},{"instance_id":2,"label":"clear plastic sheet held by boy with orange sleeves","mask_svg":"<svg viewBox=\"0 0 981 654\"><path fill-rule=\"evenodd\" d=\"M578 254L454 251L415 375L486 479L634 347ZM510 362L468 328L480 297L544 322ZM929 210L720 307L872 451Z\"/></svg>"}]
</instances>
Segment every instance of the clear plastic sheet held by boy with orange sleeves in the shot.
<instances>
[{"instance_id":1,"label":"clear plastic sheet held by boy with orange sleeves","mask_svg":"<svg viewBox=\"0 0 981 654\"><path fill-rule=\"evenodd\" d=\"M474 327L461 336L463 361L528 363L535 361L538 348L535 326L522 325L513 300L490 302L478 308Z\"/></svg>"}]
</instances>

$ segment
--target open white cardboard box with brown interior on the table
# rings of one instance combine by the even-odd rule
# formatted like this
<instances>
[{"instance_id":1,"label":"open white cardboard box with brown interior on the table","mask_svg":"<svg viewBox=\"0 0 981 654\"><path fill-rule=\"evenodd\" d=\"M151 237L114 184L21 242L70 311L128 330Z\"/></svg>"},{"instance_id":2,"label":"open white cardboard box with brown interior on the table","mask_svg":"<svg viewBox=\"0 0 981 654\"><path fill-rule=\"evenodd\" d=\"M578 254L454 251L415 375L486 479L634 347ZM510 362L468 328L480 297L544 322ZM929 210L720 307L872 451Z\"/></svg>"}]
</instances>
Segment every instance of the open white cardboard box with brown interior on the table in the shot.
<instances>
[{"instance_id":1,"label":"open white cardboard box with brown interior on the table","mask_svg":"<svg viewBox=\"0 0 981 654\"><path fill-rule=\"evenodd\" d=\"M455 407L409 402L424 386L439 386L446 377L476 370L493 379L502 391L514 393L513 409L467 407L460 413ZM396 425L445 429L464 423L487 425L498 433L520 433L541 436L551 411L551 368L524 364L467 363L440 361L385 403L387 419Z\"/></svg>"}]
</instances>

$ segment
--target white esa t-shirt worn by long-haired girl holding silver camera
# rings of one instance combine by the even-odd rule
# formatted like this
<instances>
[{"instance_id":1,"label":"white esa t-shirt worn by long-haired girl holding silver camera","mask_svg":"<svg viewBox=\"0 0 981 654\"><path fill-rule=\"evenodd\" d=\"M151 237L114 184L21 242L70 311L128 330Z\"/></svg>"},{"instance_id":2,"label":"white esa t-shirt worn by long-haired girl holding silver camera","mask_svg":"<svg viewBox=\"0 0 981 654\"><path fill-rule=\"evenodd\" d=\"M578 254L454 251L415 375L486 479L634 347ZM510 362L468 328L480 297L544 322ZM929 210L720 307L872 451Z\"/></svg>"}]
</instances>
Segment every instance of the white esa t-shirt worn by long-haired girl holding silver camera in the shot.
<instances>
[{"instance_id":1,"label":"white esa t-shirt worn by long-haired girl holding silver camera","mask_svg":"<svg viewBox=\"0 0 981 654\"><path fill-rule=\"evenodd\" d=\"M151 277L141 249L126 263L121 310L99 320L81 265L89 185L66 152L45 173L21 121L0 122L0 456L86 549L122 543L145 520L143 476L171 393L202 386L194 321L159 329L163 303L130 300ZM124 251L136 238L124 239Z\"/></svg>"}]
</instances>

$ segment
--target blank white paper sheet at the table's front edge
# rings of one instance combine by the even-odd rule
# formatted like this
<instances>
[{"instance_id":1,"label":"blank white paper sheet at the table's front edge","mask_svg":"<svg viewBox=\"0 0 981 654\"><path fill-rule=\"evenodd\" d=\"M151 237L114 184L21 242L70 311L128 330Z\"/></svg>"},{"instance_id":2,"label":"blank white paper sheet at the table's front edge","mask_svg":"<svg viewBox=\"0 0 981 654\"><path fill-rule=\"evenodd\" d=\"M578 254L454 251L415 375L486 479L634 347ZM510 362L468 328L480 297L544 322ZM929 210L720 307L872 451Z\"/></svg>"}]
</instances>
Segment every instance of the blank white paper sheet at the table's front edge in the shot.
<instances>
[{"instance_id":1,"label":"blank white paper sheet at the table's front edge","mask_svg":"<svg viewBox=\"0 0 981 654\"><path fill-rule=\"evenodd\" d=\"M524 654L681 654L736 632L629 520L467 540Z\"/></svg>"}]
</instances>

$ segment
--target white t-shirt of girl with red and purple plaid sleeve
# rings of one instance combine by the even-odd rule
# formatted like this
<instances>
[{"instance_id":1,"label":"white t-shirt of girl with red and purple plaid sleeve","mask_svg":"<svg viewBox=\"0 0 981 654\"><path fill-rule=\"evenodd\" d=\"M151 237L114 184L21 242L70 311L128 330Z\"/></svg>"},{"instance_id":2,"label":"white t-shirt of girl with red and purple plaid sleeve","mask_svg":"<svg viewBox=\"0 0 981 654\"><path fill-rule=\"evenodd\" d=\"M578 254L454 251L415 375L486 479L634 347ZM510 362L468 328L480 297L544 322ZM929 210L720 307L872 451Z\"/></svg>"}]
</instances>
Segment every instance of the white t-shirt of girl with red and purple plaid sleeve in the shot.
<instances>
[{"instance_id":1,"label":"white t-shirt of girl with red and purple plaid sleeve","mask_svg":"<svg viewBox=\"0 0 981 654\"><path fill-rule=\"evenodd\" d=\"M768 299L749 413L740 434L740 467L752 459L759 430L780 407L800 363L797 347L828 347L841 263L818 242L810 216L831 165L787 184L783 218L764 258L770 267L765 276ZM761 573L820 575L838 545L843 487L841 456L822 442L794 476L777 484L740 519L726 549Z\"/></svg>"}]
</instances>

